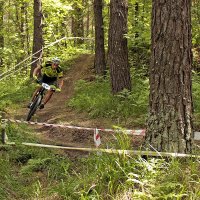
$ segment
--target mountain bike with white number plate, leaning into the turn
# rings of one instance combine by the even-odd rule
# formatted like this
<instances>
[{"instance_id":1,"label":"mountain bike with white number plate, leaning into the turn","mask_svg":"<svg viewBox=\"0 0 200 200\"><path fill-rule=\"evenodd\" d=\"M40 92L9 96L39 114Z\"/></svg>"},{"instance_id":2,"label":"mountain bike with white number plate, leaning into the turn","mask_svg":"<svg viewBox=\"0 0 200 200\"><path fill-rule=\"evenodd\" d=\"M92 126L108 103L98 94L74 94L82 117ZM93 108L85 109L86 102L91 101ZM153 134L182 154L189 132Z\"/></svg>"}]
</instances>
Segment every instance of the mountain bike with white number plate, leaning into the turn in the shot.
<instances>
[{"instance_id":1,"label":"mountain bike with white number plate, leaning into the turn","mask_svg":"<svg viewBox=\"0 0 200 200\"><path fill-rule=\"evenodd\" d=\"M48 85L47 83L41 83L41 86L42 86L41 89L35 95L33 103L30 106L30 110L28 112L26 121L29 121L31 117L35 114L36 110L40 107L45 91L51 89L51 86Z\"/></svg>"}]
</instances>

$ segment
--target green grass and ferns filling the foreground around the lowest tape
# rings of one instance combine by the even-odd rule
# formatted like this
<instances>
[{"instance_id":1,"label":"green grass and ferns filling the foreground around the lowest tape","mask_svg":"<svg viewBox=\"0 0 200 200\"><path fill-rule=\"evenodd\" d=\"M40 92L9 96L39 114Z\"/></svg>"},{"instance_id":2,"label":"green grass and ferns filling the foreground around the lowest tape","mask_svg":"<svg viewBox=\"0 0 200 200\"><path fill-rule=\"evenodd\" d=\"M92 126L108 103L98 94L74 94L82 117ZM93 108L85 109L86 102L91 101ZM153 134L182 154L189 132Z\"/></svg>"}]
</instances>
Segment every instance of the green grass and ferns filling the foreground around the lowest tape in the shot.
<instances>
[{"instance_id":1,"label":"green grass and ferns filling the foreground around the lowest tape","mask_svg":"<svg viewBox=\"0 0 200 200\"><path fill-rule=\"evenodd\" d=\"M0 199L178 200L200 198L200 160L90 153L67 153L21 142L39 142L27 125L10 124L0 147ZM131 149L117 134L110 148Z\"/></svg>"}]
</instances>

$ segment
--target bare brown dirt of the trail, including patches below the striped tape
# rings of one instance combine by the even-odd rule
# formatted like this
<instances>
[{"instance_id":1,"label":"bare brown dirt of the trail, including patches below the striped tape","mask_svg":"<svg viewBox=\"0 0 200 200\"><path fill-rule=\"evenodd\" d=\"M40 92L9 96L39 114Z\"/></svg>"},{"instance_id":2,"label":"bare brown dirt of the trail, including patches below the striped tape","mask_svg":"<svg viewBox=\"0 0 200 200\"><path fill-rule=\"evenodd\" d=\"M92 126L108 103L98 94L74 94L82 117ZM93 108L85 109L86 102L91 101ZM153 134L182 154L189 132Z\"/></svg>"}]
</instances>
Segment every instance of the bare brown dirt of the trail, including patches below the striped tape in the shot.
<instances>
[{"instance_id":1,"label":"bare brown dirt of the trail, including patches below the striped tape","mask_svg":"<svg viewBox=\"0 0 200 200\"><path fill-rule=\"evenodd\" d=\"M38 110L33 116L32 121L70 125L86 128L112 128L114 122L111 119L91 119L87 113L78 113L73 108L67 106L68 100L74 95L75 83L77 80L84 79L86 81L94 80L93 74L93 55L81 55L77 58L70 70L65 72L64 85L60 93L55 93L50 101L45 105L45 108ZM24 108L17 110L14 114L15 119L24 120L28 109L26 108L28 102L25 103ZM83 129L69 129L59 127L34 126L34 132L40 138L40 141L45 144L54 144L62 146L73 147L95 147L94 132ZM106 143L112 140L112 134L101 132L101 142ZM141 144L142 137L134 137L135 147ZM82 155L83 152L67 151L67 154Z\"/></svg>"}]
</instances>

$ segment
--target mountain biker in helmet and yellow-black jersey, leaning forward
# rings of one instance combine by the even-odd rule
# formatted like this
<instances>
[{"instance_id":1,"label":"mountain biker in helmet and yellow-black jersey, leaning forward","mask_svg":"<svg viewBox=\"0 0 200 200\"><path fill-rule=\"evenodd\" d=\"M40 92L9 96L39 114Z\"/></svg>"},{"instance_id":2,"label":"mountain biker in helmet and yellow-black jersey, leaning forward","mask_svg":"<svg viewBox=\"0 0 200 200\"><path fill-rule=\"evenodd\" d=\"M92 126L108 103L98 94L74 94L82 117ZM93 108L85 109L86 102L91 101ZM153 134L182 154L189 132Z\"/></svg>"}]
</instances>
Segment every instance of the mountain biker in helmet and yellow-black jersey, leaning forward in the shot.
<instances>
[{"instance_id":1,"label":"mountain biker in helmet and yellow-black jersey, leaning forward","mask_svg":"<svg viewBox=\"0 0 200 200\"><path fill-rule=\"evenodd\" d=\"M51 99L55 91L60 92L63 86L63 70L60 67L60 59L53 58L51 61L47 61L43 66L37 66L33 71L33 79L37 83L47 83L51 85L51 88L46 92L43 102L40 104L40 109L44 108L44 105ZM42 75L41 78L39 78ZM31 104L34 100L35 95L41 89L41 85L36 88L33 93L32 100L28 104L28 108L31 107Z\"/></svg>"}]
</instances>

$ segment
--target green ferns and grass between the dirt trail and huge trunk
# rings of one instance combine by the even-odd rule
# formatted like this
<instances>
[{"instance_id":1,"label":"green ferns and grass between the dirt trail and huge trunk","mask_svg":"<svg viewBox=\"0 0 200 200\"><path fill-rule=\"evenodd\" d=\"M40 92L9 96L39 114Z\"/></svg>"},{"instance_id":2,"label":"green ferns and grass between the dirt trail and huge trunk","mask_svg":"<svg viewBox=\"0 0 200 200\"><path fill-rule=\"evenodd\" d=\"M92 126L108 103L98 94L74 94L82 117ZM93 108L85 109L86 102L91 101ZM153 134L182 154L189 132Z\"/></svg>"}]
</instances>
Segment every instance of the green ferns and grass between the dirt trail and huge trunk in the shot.
<instances>
[{"instance_id":1,"label":"green ferns and grass between the dirt trail and huge trunk","mask_svg":"<svg viewBox=\"0 0 200 200\"><path fill-rule=\"evenodd\" d=\"M113 96L109 78L97 77L95 82L79 80L69 106L87 112L92 118L118 119L120 123L142 126L147 114L148 79L133 76L132 91L123 90Z\"/></svg>"}]
</instances>

